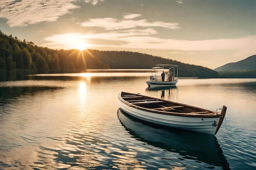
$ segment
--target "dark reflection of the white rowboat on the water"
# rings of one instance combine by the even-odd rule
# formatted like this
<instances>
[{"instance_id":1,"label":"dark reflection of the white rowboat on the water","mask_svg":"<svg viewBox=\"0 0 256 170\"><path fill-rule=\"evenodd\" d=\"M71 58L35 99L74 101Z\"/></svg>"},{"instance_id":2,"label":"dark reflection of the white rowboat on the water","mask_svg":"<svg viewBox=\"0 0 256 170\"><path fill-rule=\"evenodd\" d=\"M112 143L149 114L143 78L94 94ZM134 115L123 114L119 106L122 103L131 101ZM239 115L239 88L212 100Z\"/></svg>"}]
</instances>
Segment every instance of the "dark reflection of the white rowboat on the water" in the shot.
<instances>
[{"instance_id":1,"label":"dark reflection of the white rowboat on the water","mask_svg":"<svg viewBox=\"0 0 256 170\"><path fill-rule=\"evenodd\" d=\"M209 165L204 168L229 170L229 163L214 135L150 124L128 115L121 109L117 110L117 115L121 124L137 140L178 153L181 156L178 159L183 159L184 162L194 160L196 165L202 162ZM184 167L189 166L189 163L183 164Z\"/></svg>"}]
</instances>

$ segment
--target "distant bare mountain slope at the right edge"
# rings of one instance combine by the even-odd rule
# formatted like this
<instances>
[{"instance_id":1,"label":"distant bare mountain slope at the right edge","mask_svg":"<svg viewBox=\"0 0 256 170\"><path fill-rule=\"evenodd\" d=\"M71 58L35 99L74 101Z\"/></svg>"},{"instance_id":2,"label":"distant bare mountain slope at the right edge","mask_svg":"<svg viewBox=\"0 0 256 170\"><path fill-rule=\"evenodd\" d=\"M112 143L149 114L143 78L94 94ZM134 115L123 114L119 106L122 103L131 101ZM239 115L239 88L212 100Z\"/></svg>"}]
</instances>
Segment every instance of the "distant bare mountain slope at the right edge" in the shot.
<instances>
[{"instance_id":1,"label":"distant bare mountain slope at the right edge","mask_svg":"<svg viewBox=\"0 0 256 170\"><path fill-rule=\"evenodd\" d=\"M239 62L232 62L213 69L214 71L246 71L256 69L256 55Z\"/></svg>"}]
</instances>

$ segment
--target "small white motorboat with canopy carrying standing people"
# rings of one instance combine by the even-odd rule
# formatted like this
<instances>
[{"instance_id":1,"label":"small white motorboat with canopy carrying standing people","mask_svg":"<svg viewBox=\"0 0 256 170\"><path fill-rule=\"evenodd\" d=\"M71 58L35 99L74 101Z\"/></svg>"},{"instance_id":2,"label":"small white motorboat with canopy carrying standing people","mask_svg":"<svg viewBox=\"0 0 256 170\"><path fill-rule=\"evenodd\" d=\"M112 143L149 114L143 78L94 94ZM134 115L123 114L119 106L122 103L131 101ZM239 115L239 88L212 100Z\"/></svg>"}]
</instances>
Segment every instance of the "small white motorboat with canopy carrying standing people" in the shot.
<instances>
[{"instance_id":1,"label":"small white motorboat with canopy carrying standing people","mask_svg":"<svg viewBox=\"0 0 256 170\"><path fill-rule=\"evenodd\" d=\"M168 69L168 71L166 71ZM168 72L171 77L168 79ZM162 80L161 74L164 73L164 81ZM173 87L178 82L178 66L170 64L157 64L151 69L151 75L149 80L146 82L148 88L162 88L162 87Z\"/></svg>"}]
</instances>

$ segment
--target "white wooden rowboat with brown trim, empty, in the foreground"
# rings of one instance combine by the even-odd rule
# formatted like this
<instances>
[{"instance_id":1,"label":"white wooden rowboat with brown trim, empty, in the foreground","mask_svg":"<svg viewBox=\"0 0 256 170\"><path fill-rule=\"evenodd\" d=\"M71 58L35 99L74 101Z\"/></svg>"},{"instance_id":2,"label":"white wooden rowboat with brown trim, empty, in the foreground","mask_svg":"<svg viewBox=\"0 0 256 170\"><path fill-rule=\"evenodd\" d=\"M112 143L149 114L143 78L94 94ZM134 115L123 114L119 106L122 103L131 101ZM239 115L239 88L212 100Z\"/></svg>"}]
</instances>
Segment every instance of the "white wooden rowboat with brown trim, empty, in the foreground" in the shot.
<instances>
[{"instance_id":1,"label":"white wooden rowboat with brown trim, empty, in the foreground","mask_svg":"<svg viewBox=\"0 0 256 170\"><path fill-rule=\"evenodd\" d=\"M121 110L150 123L216 135L226 114L164 99L121 91L117 100Z\"/></svg>"}]
</instances>

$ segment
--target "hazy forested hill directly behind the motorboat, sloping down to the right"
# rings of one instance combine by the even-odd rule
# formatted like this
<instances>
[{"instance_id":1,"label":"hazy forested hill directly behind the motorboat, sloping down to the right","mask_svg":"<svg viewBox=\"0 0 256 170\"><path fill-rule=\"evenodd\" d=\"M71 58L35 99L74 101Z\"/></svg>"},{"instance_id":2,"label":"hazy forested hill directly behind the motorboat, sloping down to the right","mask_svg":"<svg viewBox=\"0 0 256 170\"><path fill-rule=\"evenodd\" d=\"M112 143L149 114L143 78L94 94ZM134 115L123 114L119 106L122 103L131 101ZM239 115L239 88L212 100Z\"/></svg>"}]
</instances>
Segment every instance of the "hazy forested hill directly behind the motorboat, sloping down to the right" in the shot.
<instances>
[{"instance_id":1,"label":"hazy forested hill directly behind the motorboat, sloping down to the right","mask_svg":"<svg viewBox=\"0 0 256 170\"><path fill-rule=\"evenodd\" d=\"M129 51L98 51L88 50L110 68L152 68L156 64L175 64L179 66L179 77L218 77L218 72L209 68L185 64L176 60L166 59L144 53Z\"/></svg>"}]
</instances>

